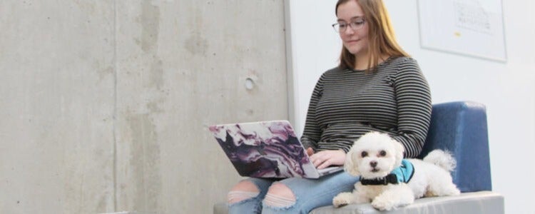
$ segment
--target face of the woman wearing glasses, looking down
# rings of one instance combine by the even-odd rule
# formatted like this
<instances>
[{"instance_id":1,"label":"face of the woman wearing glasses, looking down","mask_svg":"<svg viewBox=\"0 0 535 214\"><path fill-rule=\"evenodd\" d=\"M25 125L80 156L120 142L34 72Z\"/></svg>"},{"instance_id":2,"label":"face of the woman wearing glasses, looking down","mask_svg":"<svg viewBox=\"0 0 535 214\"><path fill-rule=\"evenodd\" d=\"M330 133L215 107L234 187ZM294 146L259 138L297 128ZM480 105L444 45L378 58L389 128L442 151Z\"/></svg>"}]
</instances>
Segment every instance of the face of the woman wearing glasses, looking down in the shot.
<instances>
[{"instance_id":1,"label":"face of the woman wearing glasses, looking down","mask_svg":"<svg viewBox=\"0 0 535 214\"><path fill-rule=\"evenodd\" d=\"M364 19L364 12L357 1L347 1L340 4L337 9L338 24L345 25L340 31L340 38L345 48L351 54L367 54L368 51L368 24ZM359 29L355 30L353 27Z\"/></svg>"}]
</instances>

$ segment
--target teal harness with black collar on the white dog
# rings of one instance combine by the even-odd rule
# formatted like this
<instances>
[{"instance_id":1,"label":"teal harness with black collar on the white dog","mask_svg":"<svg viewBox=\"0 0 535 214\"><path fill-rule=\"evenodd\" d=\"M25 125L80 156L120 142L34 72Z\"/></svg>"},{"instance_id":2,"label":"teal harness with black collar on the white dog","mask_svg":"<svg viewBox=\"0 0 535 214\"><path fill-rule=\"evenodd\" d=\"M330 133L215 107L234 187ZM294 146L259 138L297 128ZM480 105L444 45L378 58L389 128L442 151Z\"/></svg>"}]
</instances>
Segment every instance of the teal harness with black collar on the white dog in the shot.
<instances>
[{"instance_id":1,"label":"teal harness with black collar on the white dog","mask_svg":"<svg viewBox=\"0 0 535 214\"><path fill-rule=\"evenodd\" d=\"M389 183L408 183L414 175L414 166L409 161L403 159L402 164L394 168L387 176L383 178L364 179L360 177L362 185L387 185Z\"/></svg>"}]
</instances>

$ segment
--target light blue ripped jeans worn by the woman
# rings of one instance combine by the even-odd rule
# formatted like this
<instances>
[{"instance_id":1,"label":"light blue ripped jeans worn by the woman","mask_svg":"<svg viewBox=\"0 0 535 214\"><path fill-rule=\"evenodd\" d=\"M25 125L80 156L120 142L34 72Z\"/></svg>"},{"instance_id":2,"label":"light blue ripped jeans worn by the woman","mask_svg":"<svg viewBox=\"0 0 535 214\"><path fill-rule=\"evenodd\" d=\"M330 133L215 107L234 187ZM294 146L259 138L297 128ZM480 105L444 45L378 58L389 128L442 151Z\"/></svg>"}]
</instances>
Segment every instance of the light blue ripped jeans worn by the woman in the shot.
<instances>
[{"instance_id":1,"label":"light blue ripped jeans worn by the woman","mask_svg":"<svg viewBox=\"0 0 535 214\"><path fill-rule=\"evenodd\" d=\"M260 193L253 198L248 198L229 205L229 213L309 213L310 210L325 205L332 205L332 198L338 193L351 192L358 177L346 172L326 175L319 179L286 178L275 181L263 178L248 178L254 183ZM272 207L265 205L263 200L267 189L272 183L285 184L295 195L295 203L287 207Z\"/></svg>"}]
</instances>

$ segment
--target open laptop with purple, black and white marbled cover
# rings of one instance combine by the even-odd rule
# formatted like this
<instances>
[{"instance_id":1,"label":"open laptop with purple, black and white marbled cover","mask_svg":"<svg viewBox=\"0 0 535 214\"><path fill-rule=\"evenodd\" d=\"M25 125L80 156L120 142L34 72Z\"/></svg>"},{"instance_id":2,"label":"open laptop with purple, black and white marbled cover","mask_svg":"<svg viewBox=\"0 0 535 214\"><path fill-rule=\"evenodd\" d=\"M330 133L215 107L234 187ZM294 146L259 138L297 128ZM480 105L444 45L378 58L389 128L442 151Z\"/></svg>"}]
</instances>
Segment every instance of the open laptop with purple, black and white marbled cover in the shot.
<instances>
[{"instance_id":1,"label":"open laptop with purple, black and white marbled cover","mask_svg":"<svg viewBox=\"0 0 535 214\"><path fill-rule=\"evenodd\" d=\"M244 177L320 178L343 170L317 170L288 121L213 125L209 130Z\"/></svg>"}]
</instances>

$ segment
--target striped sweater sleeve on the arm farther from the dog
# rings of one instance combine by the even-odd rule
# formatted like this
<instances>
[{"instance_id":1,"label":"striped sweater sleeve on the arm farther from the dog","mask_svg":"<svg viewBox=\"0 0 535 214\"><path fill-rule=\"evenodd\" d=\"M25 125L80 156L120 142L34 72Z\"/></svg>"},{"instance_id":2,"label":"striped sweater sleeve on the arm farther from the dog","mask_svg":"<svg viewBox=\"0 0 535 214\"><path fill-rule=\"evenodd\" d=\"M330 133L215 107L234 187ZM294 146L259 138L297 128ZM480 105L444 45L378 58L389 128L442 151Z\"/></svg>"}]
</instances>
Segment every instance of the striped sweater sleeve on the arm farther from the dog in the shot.
<instances>
[{"instance_id":1,"label":"striped sweater sleeve on the arm farther from the dog","mask_svg":"<svg viewBox=\"0 0 535 214\"><path fill-rule=\"evenodd\" d=\"M322 131L320 124L316 120L316 107L317 103L322 97L323 84L322 84L323 75L317 81L314 91L312 91L312 96L310 97L310 103L308 105L307 118L305 121L305 128L301 137L301 142L305 148L312 148L317 151L317 142L320 141Z\"/></svg>"}]
</instances>

